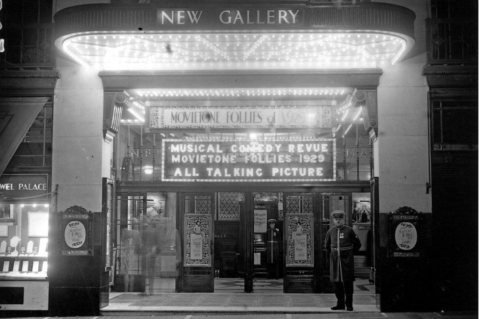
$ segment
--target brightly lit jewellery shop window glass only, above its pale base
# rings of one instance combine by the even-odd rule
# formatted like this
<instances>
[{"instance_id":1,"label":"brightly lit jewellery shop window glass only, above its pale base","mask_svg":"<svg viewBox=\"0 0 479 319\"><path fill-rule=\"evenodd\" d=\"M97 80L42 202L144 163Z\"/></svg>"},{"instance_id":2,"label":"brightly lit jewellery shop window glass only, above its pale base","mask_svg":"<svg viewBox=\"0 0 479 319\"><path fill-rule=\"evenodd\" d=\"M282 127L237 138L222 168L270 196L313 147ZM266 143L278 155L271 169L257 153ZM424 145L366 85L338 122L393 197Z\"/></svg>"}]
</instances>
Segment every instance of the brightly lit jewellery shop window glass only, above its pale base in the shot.
<instances>
[{"instance_id":1,"label":"brightly lit jewellery shop window glass only, above its pale base","mask_svg":"<svg viewBox=\"0 0 479 319\"><path fill-rule=\"evenodd\" d=\"M48 204L0 204L0 279L46 278Z\"/></svg>"}]
</instances>

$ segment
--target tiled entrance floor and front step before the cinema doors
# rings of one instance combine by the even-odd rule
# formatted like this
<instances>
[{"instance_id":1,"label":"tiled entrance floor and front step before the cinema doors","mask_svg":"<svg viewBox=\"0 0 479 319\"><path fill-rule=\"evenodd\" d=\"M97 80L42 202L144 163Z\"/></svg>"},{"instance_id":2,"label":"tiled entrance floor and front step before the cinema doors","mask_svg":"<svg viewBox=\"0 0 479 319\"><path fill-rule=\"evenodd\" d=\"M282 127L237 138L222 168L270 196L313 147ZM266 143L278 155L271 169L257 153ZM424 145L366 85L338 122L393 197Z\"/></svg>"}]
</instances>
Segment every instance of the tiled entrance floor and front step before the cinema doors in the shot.
<instances>
[{"instance_id":1,"label":"tiled entrance floor and front step before the cinema doors","mask_svg":"<svg viewBox=\"0 0 479 319\"><path fill-rule=\"evenodd\" d=\"M283 293L282 280L257 280L255 293L244 293L242 279L217 279L213 293L154 294L110 293L109 305L102 314L120 313L340 313L332 311L336 297L331 293ZM378 313L373 286L357 281L354 312Z\"/></svg>"}]
</instances>

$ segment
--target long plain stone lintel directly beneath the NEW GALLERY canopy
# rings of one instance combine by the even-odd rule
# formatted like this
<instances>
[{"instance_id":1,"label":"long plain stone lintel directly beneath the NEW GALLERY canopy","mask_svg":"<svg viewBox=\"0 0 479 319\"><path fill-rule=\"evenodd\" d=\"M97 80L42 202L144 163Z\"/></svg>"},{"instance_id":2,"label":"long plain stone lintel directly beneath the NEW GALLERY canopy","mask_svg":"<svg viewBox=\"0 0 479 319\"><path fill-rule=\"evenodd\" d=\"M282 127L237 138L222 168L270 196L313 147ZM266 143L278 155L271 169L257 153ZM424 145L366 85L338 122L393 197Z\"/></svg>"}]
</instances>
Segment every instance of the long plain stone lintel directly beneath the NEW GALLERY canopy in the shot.
<instances>
[{"instance_id":1,"label":"long plain stone lintel directly beneath the NEW GALLERY canopy","mask_svg":"<svg viewBox=\"0 0 479 319\"><path fill-rule=\"evenodd\" d=\"M229 88L229 87L361 87L377 88L381 69L329 70L311 72L144 72L102 71L99 73L105 89L123 90L145 87L158 88Z\"/></svg>"}]
</instances>

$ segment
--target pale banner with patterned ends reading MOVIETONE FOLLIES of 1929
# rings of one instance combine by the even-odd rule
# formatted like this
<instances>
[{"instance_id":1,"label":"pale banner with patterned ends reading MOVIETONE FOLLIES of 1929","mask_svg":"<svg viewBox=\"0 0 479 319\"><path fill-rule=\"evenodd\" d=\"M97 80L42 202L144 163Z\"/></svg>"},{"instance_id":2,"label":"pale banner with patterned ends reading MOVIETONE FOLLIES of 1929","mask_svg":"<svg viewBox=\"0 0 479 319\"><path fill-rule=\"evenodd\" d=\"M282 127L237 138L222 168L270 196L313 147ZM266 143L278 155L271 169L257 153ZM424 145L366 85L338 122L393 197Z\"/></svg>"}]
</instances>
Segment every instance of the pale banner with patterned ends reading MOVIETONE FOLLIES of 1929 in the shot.
<instances>
[{"instance_id":1,"label":"pale banner with patterned ends reading MOVIETONE FOLLIES of 1929","mask_svg":"<svg viewBox=\"0 0 479 319\"><path fill-rule=\"evenodd\" d=\"M258 129L333 126L333 106L150 106L149 129Z\"/></svg>"}]
</instances>

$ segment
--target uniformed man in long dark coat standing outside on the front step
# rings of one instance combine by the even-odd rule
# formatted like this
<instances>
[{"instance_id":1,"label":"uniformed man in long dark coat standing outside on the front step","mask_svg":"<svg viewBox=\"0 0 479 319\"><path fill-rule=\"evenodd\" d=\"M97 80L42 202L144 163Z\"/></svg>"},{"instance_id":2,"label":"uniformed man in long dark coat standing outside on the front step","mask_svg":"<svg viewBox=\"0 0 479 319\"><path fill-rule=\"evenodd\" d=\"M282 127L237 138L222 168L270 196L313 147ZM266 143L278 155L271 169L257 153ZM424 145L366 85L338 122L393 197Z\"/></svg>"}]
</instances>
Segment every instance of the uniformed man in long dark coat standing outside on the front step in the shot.
<instances>
[{"instance_id":1,"label":"uniformed man in long dark coat standing outside on the front step","mask_svg":"<svg viewBox=\"0 0 479 319\"><path fill-rule=\"evenodd\" d=\"M331 281L334 283L334 293L338 299L332 310L352 311L352 293L354 278L354 251L359 250L361 241L351 227L346 226L345 213L331 213L334 227L330 228L324 239L324 247L331 254L329 263Z\"/></svg>"}]
</instances>

